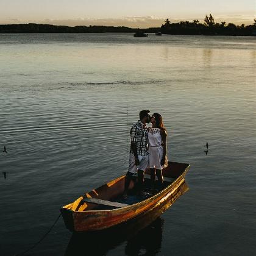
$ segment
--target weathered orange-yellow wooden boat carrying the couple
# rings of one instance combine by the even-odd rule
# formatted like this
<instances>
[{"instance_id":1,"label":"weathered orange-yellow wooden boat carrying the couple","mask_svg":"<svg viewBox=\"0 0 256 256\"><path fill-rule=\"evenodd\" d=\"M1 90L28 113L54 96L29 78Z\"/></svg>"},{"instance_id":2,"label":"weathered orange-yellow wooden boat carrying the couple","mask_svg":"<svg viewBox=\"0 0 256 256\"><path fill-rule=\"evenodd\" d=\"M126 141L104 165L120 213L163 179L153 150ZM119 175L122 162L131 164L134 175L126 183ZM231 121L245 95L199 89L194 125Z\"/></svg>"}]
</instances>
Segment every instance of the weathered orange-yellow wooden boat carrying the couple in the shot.
<instances>
[{"instance_id":1,"label":"weathered orange-yellow wooden boat carrying the couple","mask_svg":"<svg viewBox=\"0 0 256 256\"><path fill-rule=\"evenodd\" d=\"M129 196L123 199L125 176L121 176L63 206L60 212L66 228L71 231L107 229L165 205L166 201L171 201L179 193L190 167L187 163L168 163L169 166L163 169L164 182L153 193L148 193L151 187L150 172L149 169L145 171L146 196L136 196L137 177L133 177Z\"/></svg>"}]
</instances>

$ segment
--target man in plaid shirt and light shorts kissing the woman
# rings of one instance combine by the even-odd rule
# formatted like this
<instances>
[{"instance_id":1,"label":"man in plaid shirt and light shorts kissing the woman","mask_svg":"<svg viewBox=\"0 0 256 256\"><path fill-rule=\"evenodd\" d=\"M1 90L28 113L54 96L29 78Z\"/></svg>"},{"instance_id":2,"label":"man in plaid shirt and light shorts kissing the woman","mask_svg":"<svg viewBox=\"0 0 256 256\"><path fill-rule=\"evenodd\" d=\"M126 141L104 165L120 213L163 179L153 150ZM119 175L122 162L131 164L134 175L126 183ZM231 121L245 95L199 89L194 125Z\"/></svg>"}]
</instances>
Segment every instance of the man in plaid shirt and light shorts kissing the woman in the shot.
<instances>
[{"instance_id":1,"label":"man in plaid shirt and light shorts kissing the woman","mask_svg":"<svg viewBox=\"0 0 256 256\"><path fill-rule=\"evenodd\" d=\"M149 123L151 116L149 110L141 110L140 120L133 124L130 129L130 155L129 155L129 168L126 173L124 183L124 197L127 197L127 191L132 180L133 174L138 172L138 185L141 189L144 181L144 171L148 167L148 130L146 123Z\"/></svg>"}]
</instances>

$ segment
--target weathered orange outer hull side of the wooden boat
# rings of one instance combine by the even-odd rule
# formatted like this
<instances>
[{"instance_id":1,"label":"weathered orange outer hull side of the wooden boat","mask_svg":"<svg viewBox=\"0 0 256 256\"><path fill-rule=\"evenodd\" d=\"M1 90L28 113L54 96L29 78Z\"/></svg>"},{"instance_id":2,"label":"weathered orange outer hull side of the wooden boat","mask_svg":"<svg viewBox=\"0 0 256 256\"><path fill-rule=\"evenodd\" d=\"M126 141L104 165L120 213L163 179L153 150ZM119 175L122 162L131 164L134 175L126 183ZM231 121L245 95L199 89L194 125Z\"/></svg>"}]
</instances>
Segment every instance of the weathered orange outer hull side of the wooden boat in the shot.
<instances>
[{"instance_id":1,"label":"weathered orange outer hull side of the wooden boat","mask_svg":"<svg viewBox=\"0 0 256 256\"><path fill-rule=\"evenodd\" d=\"M129 219L136 218L141 214L149 213L155 208L167 204L167 202L172 204L175 201L177 194L180 193L180 187L185 182L184 177L188 168L189 165L187 165L187 168L185 168L185 170L176 177L174 182L170 183L168 187L137 204L113 210L74 211L70 209L70 206L62 207L60 212L62 213L65 225L67 229L76 232L108 229L122 222L126 222ZM164 173L165 172L163 171L163 174ZM124 176L119 177L118 179L119 181L121 180L121 185L123 186ZM82 201L82 197L78 200Z\"/></svg>"}]
</instances>

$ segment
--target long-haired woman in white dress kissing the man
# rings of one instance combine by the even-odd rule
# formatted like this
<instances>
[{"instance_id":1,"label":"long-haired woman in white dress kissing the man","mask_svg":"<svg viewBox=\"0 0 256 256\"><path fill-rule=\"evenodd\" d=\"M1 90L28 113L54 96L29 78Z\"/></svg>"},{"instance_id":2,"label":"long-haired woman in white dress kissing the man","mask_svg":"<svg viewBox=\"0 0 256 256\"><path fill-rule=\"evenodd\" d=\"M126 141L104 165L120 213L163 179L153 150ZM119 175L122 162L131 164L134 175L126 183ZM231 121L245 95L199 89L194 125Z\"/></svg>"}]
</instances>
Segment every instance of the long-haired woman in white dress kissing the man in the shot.
<instances>
[{"instance_id":1,"label":"long-haired woman in white dress kissing the man","mask_svg":"<svg viewBox=\"0 0 256 256\"><path fill-rule=\"evenodd\" d=\"M152 127L148 129L149 165L151 180L154 188L155 174L158 182L163 183L162 169L168 166L166 129L163 126L163 118L160 114L154 113L151 116Z\"/></svg>"}]
</instances>

